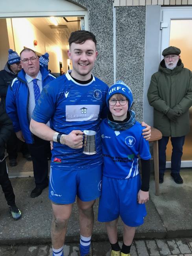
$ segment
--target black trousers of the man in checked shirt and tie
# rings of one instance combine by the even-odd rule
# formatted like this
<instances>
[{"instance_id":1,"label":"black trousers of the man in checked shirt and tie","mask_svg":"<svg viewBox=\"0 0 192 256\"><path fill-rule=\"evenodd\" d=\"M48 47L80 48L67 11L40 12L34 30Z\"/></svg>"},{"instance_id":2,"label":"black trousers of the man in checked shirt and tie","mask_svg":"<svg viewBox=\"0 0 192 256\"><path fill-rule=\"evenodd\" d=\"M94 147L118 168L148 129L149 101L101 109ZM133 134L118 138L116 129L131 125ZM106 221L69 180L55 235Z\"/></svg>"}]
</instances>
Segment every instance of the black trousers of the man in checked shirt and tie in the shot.
<instances>
[{"instance_id":1,"label":"black trousers of the man in checked shirt and tie","mask_svg":"<svg viewBox=\"0 0 192 256\"><path fill-rule=\"evenodd\" d=\"M48 186L48 154L50 142L34 135L34 143L28 144L33 161L33 173L36 187L44 189Z\"/></svg>"}]
</instances>

